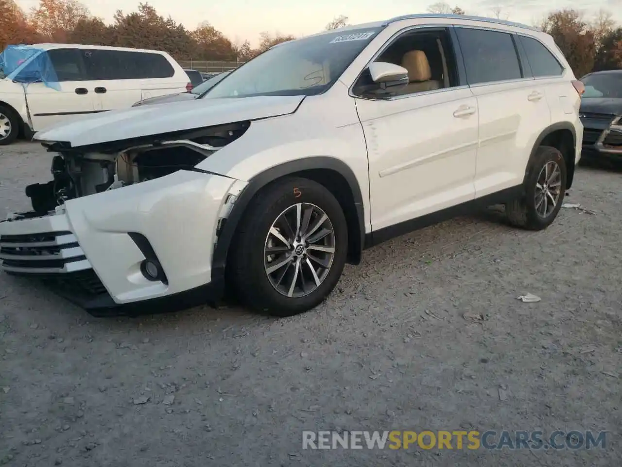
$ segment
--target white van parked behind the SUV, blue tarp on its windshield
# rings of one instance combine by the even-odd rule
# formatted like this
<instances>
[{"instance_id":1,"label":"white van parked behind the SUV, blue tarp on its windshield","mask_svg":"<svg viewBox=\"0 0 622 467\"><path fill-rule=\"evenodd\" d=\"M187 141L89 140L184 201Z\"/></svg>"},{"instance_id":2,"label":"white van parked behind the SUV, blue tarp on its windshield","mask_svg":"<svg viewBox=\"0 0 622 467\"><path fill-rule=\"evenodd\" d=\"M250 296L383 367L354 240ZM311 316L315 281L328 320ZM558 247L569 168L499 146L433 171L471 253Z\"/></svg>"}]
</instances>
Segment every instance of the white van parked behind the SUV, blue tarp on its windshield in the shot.
<instances>
[{"instance_id":1,"label":"white van parked behind the SUV, blue tarp on its windshield","mask_svg":"<svg viewBox=\"0 0 622 467\"><path fill-rule=\"evenodd\" d=\"M188 75L166 52L101 45L34 44L49 56L58 88L0 79L0 146L81 116L184 92ZM35 56L16 70L27 67ZM0 75L2 77L2 75ZM56 85L56 83L55 83Z\"/></svg>"}]
</instances>

